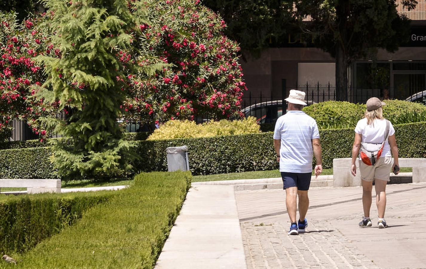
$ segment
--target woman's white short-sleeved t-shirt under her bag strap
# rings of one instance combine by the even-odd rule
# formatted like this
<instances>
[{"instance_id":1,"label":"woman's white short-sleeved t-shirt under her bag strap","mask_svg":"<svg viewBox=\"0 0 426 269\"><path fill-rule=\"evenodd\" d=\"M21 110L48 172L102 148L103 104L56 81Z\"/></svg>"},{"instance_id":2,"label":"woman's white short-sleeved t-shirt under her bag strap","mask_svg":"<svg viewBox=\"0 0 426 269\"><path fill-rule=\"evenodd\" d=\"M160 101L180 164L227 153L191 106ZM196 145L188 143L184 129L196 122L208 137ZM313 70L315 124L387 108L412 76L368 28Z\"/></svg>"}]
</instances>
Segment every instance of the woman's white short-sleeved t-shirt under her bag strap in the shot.
<instances>
[{"instance_id":1,"label":"woman's white short-sleeved t-shirt under her bag strap","mask_svg":"<svg viewBox=\"0 0 426 269\"><path fill-rule=\"evenodd\" d=\"M362 136L361 142L381 144L385 138L386 131L386 120L385 119L375 119L373 124L367 125L367 119L360 119L355 127L355 133L358 133ZM389 121L389 136L394 135L395 129ZM388 138L389 138L388 136ZM383 147L383 153L385 157L391 157L391 147L389 146L389 139L386 139L385 145Z\"/></svg>"}]
</instances>

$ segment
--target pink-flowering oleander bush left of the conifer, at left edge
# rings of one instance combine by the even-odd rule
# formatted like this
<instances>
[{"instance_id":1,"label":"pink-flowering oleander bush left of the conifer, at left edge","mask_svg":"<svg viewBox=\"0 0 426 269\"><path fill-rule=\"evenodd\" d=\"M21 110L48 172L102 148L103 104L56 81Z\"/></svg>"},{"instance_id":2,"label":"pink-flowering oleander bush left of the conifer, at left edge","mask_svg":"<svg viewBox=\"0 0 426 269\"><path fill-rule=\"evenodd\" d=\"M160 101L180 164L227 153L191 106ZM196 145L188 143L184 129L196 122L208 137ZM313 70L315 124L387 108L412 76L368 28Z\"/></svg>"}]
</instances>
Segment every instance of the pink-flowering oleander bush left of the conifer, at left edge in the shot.
<instances>
[{"instance_id":1,"label":"pink-flowering oleander bush left of the conifer, at left edge","mask_svg":"<svg viewBox=\"0 0 426 269\"><path fill-rule=\"evenodd\" d=\"M9 138L11 121L27 120L36 134L46 136L46 126L39 119L58 113L56 103L43 98L33 98L34 85L41 85L46 75L40 65L33 61L37 55L59 56L48 40L42 21L50 20L52 14L37 15L17 23L15 13L0 12L0 140Z\"/></svg>"}]
</instances>

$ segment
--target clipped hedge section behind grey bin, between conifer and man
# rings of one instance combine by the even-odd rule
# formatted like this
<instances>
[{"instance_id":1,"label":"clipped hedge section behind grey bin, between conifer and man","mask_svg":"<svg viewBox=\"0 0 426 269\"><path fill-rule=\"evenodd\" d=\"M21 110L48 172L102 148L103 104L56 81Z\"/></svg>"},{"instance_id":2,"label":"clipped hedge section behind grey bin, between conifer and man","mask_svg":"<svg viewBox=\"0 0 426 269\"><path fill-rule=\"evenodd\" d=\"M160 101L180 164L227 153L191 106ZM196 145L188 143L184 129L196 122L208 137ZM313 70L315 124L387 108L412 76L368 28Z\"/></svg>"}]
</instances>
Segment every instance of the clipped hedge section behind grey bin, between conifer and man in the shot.
<instances>
[{"instance_id":1,"label":"clipped hedge section behind grey bin, between conifer and man","mask_svg":"<svg viewBox=\"0 0 426 269\"><path fill-rule=\"evenodd\" d=\"M141 171L167 171L167 147L187 145L193 175L276 169L271 133L136 142Z\"/></svg>"}]
</instances>

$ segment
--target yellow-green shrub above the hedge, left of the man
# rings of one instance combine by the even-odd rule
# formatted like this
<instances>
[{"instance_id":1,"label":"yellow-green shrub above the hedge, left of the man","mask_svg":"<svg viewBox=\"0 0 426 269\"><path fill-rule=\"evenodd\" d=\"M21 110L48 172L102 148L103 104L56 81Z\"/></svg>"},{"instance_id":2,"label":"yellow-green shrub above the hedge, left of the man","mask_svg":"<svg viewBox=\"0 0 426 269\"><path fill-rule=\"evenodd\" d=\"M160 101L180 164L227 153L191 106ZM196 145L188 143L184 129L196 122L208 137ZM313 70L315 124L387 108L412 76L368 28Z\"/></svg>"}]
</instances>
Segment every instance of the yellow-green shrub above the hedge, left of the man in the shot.
<instances>
[{"instance_id":1,"label":"yellow-green shrub above the hedge, left of the man","mask_svg":"<svg viewBox=\"0 0 426 269\"><path fill-rule=\"evenodd\" d=\"M235 121L223 119L203 124L196 124L194 121L188 120L172 120L162 124L147 140L199 138L259 132L259 124L256 123L256 118L254 117Z\"/></svg>"}]
</instances>

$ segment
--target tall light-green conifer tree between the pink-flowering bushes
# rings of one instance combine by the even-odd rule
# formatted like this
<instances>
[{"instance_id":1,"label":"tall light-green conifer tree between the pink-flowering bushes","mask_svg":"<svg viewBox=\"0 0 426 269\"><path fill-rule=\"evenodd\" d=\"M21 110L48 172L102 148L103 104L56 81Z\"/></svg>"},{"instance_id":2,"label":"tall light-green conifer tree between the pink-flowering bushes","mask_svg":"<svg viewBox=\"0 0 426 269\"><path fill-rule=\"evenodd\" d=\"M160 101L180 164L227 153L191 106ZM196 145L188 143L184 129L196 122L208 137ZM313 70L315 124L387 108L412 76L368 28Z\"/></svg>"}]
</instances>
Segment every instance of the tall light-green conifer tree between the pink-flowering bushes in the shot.
<instances>
[{"instance_id":1,"label":"tall light-green conifer tree between the pink-flowering bushes","mask_svg":"<svg viewBox=\"0 0 426 269\"><path fill-rule=\"evenodd\" d=\"M73 143L54 142L52 162L63 179L122 176L130 171L134 158L131 145L121 139L117 120L125 99L123 69L133 67L132 63L124 67L117 51L130 47L140 34L136 18L142 14L133 16L125 0L44 0L43 4L55 14L53 43L61 58L37 57L49 75L38 95L58 101L71 115L58 122L56 131L73 139Z\"/></svg>"}]
</instances>

